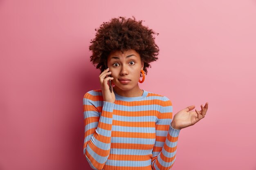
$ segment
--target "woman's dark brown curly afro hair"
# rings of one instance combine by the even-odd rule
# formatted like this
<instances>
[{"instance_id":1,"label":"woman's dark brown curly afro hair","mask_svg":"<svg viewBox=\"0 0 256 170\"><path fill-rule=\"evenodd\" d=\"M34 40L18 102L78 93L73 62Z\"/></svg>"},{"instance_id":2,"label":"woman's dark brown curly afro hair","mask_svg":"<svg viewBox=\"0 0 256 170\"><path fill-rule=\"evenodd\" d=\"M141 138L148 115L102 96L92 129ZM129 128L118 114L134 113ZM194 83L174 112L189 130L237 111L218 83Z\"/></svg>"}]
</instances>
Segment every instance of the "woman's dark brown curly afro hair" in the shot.
<instances>
[{"instance_id":1,"label":"woman's dark brown curly afro hair","mask_svg":"<svg viewBox=\"0 0 256 170\"><path fill-rule=\"evenodd\" d=\"M132 18L112 18L110 22L103 22L99 29L95 29L97 33L89 46L92 51L90 61L94 66L97 64L96 68L100 69L101 73L106 69L107 57L112 51L124 53L134 49L139 53L141 62L144 62L143 70L146 74L149 63L158 59L159 47L155 44L153 35L159 33L142 25L142 20L136 21L134 16Z\"/></svg>"}]
</instances>

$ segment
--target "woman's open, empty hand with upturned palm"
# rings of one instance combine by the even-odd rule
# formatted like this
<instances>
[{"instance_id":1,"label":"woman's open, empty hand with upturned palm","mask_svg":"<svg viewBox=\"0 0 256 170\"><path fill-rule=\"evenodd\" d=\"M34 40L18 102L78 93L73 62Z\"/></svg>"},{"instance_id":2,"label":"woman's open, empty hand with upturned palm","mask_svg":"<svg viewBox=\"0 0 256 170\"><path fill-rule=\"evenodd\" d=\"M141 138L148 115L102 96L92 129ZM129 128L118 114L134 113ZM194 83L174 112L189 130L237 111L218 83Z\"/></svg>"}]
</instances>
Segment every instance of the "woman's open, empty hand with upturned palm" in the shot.
<instances>
[{"instance_id":1,"label":"woman's open, empty hand with upturned palm","mask_svg":"<svg viewBox=\"0 0 256 170\"><path fill-rule=\"evenodd\" d=\"M206 102L204 107L201 105L202 110L200 111L196 109L195 111L191 111L194 108L195 105L192 105L176 113L173 117L173 121L171 122L171 126L174 129L182 129L196 124L198 121L205 117L208 109L208 102Z\"/></svg>"}]
</instances>

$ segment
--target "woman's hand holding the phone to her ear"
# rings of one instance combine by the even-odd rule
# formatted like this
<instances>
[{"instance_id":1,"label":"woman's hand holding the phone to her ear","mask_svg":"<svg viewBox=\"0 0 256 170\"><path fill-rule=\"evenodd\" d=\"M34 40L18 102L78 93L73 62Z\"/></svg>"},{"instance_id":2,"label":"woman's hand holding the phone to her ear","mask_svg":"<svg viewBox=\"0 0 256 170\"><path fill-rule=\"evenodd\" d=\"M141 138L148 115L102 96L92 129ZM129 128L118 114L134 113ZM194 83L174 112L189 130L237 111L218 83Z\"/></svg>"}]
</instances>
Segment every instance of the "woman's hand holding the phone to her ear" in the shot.
<instances>
[{"instance_id":1,"label":"woman's hand holding the phone to her ear","mask_svg":"<svg viewBox=\"0 0 256 170\"><path fill-rule=\"evenodd\" d=\"M108 85L108 80L114 79L113 77L108 77L107 75L111 74L111 71L109 71L109 68L104 70L100 75L99 75L99 81L101 83L101 92L103 96L103 100L106 102L110 103L115 103L115 93L112 89L112 93L109 90L109 85Z\"/></svg>"}]
</instances>

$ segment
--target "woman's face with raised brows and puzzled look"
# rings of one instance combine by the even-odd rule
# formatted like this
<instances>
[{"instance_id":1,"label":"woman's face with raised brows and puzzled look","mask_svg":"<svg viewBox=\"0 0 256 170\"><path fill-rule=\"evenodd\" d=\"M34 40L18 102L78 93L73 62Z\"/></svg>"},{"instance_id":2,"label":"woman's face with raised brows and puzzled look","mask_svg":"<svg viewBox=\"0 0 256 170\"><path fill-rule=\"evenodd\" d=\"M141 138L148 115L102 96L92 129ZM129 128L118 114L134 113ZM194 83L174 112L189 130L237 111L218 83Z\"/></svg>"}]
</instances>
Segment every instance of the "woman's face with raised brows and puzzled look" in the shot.
<instances>
[{"instance_id":1,"label":"woman's face with raised brows and puzzled look","mask_svg":"<svg viewBox=\"0 0 256 170\"><path fill-rule=\"evenodd\" d=\"M112 82L122 90L130 90L138 86L140 71L144 63L141 62L139 53L130 49L124 51L112 51L108 56L108 68L111 71ZM129 79L122 81L122 79Z\"/></svg>"}]
</instances>

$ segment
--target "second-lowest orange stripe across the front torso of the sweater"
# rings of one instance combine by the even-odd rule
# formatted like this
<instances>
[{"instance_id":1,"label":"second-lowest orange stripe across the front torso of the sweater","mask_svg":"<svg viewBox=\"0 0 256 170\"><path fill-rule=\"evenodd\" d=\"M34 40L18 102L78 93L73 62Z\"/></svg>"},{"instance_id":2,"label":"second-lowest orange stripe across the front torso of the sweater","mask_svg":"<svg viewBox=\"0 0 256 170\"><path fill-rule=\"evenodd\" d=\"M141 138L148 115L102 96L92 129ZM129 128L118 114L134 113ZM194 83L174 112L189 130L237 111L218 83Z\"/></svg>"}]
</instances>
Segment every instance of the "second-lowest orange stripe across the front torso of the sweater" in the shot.
<instances>
[{"instance_id":1,"label":"second-lowest orange stripe across the front torso of the sweater","mask_svg":"<svg viewBox=\"0 0 256 170\"><path fill-rule=\"evenodd\" d=\"M116 155L110 154L108 159L110 160L118 160L118 161L147 161L151 159L152 154L150 155Z\"/></svg>"}]
</instances>

